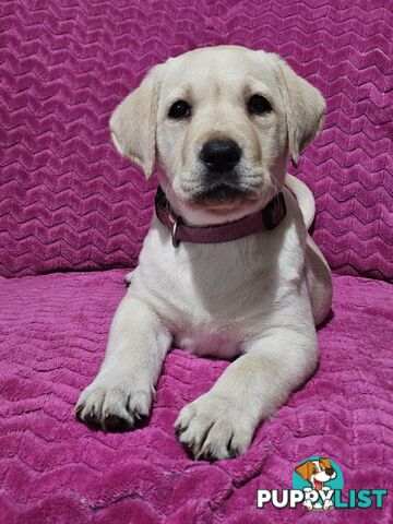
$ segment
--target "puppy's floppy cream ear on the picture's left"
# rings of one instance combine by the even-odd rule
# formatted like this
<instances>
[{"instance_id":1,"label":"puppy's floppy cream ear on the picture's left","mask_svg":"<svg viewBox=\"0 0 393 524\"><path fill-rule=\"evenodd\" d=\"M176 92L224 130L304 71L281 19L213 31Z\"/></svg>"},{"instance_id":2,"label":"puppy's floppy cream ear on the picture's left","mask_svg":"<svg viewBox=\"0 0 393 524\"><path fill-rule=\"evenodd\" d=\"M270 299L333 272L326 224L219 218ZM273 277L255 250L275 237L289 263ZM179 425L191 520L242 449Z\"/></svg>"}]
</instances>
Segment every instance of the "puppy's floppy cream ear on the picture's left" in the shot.
<instances>
[{"instance_id":1,"label":"puppy's floppy cream ear on the picture's left","mask_svg":"<svg viewBox=\"0 0 393 524\"><path fill-rule=\"evenodd\" d=\"M110 136L118 152L142 167L146 178L154 170L159 85L163 66L155 66L141 85L115 109Z\"/></svg>"}]
</instances>

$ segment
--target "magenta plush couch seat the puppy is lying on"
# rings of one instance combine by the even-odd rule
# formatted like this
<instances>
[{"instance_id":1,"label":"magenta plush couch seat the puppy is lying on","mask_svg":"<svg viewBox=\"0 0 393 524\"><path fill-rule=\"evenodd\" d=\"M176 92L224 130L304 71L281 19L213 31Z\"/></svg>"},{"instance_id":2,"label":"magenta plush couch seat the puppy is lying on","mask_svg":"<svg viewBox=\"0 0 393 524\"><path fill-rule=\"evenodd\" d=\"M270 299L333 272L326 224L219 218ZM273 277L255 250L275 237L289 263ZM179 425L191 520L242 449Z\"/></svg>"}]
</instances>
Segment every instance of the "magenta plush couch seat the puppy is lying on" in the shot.
<instances>
[{"instance_id":1,"label":"magenta plush couch seat the puppy is lying on","mask_svg":"<svg viewBox=\"0 0 393 524\"><path fill-rule=\"evenodd\" d=\"M227 362L174 349L148 425L94 432L73 417L102 361L124 293L122 271L0 279L0 515L2 522L253 523L258 488L290 488L310 455L333 458L345 489L393 485L392 287L334 278L333 319L319 331L320 367L251 449L213 465L175 438L179 409ZM314 523L314 512L263 510L269 522ZM263 520L263 522L267 522ZM334 510L318 522L391 522L383 510Z\"/></svg>"}]
</instances>

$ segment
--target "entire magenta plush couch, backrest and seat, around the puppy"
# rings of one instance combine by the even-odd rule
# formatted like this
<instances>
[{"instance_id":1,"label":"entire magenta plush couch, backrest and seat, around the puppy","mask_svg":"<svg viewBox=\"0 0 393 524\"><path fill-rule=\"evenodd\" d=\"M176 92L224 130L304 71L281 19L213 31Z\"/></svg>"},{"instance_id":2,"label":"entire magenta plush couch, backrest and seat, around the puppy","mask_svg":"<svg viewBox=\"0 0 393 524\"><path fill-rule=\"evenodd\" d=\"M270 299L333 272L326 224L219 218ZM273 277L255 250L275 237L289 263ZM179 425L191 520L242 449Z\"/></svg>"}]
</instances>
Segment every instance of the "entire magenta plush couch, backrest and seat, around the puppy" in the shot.
<instances>
[{"instance_id":1,"label":"entire magenta plush couch, backrest and seat, around the puppy","mask_svg":"<svg viewBox=\"0 0 393 524\"><path fill-rule=\"evenodd\" d=\"M0 4L0 522L393 522L392 32L389 0L19 0ZM317 199L334 272L320 367L241 457L191 461L172 429L227 362L168 355L148 424L73 417L103 358L156 181L115 151L108 118L148 68L235 43L283 55L327 102L291 169ZM159 257L159 253L157 253ZM255 509L310 455L383 509Z\"/></svg>"}]
</instances>

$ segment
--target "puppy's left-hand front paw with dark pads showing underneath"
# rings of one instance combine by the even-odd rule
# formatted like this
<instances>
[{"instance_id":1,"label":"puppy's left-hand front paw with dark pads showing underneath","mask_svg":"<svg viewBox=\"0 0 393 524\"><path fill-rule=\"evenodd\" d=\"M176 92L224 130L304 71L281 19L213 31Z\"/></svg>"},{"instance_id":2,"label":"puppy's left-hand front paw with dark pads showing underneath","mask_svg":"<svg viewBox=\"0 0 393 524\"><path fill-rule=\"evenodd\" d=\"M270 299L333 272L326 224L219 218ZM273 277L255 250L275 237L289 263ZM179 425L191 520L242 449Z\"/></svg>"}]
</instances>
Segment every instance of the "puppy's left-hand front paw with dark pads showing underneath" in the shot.
<instances>
[{"instance_id":1,"label":"puppy's left-hand front paw with dark pads showing underneath","mask_svg":"<svg viewBox=\"0 0 393 524\"><path fill-rule=\"evenodd\" d=\"M153 394L148 388L132 385L130 379L96 379L81 394L75 416L95 429L130 431L136 420L148 416Z\"/></svg>"}]
</instances>

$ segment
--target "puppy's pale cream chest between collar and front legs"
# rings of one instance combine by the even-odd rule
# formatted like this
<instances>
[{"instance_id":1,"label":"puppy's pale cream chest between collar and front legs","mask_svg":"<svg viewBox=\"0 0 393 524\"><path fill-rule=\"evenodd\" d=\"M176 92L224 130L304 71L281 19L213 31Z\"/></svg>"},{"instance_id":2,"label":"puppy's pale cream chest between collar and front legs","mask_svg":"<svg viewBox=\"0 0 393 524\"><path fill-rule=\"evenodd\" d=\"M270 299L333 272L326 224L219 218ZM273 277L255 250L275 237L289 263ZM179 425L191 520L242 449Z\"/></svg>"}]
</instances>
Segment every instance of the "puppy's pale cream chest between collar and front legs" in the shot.
<instances>
[{"instance_id":1,"label":"puppy's pale cream chest between collar and front legs","mask_svg":"<svg viewBox=\"0 0 393 524\"><path fill-rule=\"evenodd\" d=\"M178 249L166 242L157 250L159 243L157 230L151 230L134 290L162 317L177 347L199 355L235 356L276 309L279 271L272 263L272 249L261 248L252 238Z\"/></svg>"}]
</instances>

